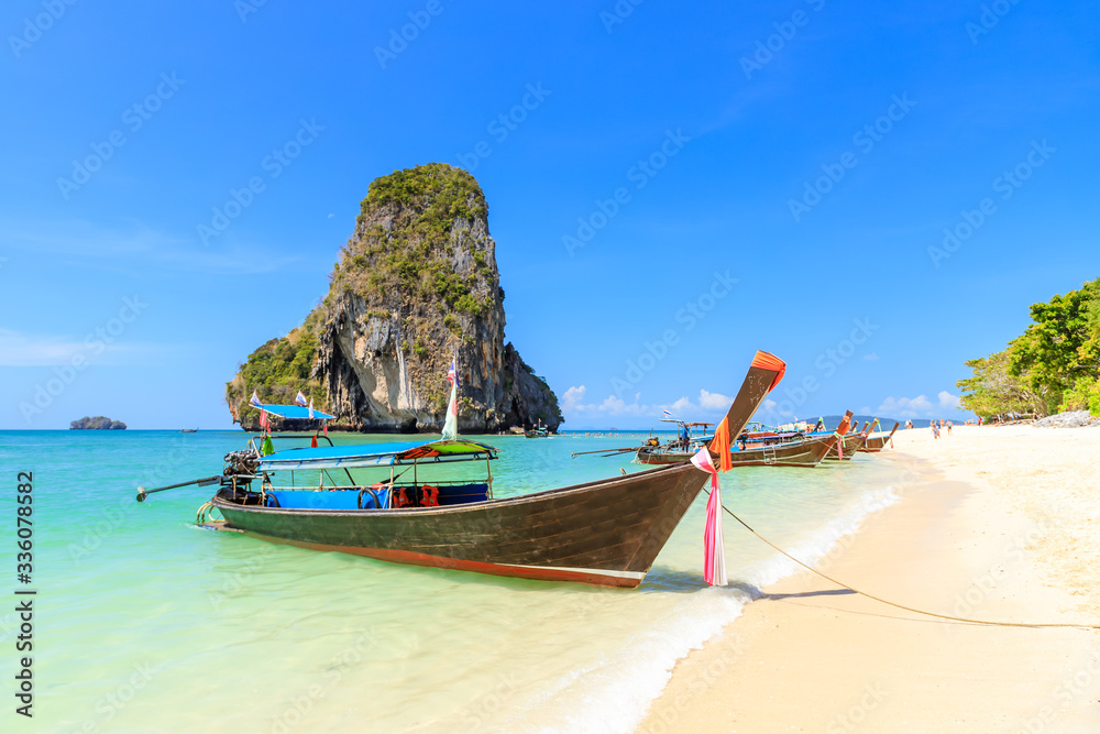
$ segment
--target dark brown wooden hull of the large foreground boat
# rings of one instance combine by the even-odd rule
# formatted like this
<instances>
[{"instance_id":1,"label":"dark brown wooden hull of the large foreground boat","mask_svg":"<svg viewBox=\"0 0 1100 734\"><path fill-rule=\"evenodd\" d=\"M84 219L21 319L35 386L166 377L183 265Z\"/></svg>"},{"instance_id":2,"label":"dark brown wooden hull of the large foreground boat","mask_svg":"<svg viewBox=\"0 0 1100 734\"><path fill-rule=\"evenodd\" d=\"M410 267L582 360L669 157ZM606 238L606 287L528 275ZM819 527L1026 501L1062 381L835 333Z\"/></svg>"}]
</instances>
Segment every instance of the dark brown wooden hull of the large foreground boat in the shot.
<instances>
[{"instance_id":1,"label":"dark brown wooden hull of the large foreground boat","mask_svg":"<svg viewBox=\"0 0 1100 734\"><path fill-rule=\"evenodd\" d=\"M637 587L708 474L680 464L447 507L294 510L211 503L264 539L415 566Z\"/></svg>"}]
</instances>

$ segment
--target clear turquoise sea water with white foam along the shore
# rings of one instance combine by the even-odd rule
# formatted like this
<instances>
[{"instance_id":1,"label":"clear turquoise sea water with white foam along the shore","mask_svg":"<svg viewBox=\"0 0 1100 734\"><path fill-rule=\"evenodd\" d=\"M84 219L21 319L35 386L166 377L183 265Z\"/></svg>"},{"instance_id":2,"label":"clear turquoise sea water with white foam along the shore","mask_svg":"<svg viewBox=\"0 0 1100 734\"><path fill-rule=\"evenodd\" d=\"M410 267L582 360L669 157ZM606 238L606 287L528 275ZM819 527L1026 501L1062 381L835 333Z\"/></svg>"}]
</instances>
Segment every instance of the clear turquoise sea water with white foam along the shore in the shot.
<instances>
[{"instance_id":1,"label":"clear turquoise sea water with white foam along the shore","mask_svg":"<svg viewBox=\"0 0 1100 734\"><path fill-rule=\"evenodd\" d=\"M638 437L480 437L497 496L639 471L572 451ZM350 437L338 441L349 442ZM393 440L355 437L354 440ZM0 432L3 731L631 731L675 660L793 569L726 518L733 585L702 579L701 495L636 590L397 566L195 526L240 431ZM15 581L16 473L34 475L33 583ZM725 504L818 558L892 502L889 462L738 469ZM34 598L34 719L13 713L16 588ZM10 603L9 603L10 601ZM12 725L20 723L16 730Z\"/></svg>"}]
</instances>

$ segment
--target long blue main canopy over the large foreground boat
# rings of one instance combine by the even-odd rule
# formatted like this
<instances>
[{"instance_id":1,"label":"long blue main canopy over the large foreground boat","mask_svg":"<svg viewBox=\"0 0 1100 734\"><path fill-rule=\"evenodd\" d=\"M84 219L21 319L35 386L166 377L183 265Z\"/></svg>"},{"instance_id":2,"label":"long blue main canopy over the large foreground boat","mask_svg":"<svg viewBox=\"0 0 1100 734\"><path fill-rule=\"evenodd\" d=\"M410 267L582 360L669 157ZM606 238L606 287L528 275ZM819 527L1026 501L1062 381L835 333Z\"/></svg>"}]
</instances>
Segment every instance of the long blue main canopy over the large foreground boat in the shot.
<instances>
[{"instance_id":1,"label":"long blue main canopy over the large foreground boat","mask_svg":"<svg viewBox=\"0 0 1100 734\"><path fill-rule=\"evenodd\" d=\"M424 459L436 461L473 461L495 459L498 449L468 440L431 440L408 443L356 443L286 449L260 460L260 471L295 469L354 469L356 467L393 467Z\"/></svg>"}]
</instances>

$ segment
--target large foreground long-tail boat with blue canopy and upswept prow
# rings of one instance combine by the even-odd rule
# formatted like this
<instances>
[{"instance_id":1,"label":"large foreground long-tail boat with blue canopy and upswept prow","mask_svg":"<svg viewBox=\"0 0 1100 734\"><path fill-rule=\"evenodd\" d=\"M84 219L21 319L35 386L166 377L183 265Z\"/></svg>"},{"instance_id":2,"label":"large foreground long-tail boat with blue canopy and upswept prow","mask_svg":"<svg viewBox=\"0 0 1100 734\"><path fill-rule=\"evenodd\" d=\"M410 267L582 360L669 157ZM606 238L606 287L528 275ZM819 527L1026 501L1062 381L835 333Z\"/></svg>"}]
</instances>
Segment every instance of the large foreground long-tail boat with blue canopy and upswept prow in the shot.
<instances>
[{"instance_id":1,"label":"large foreground long-tail boat with blue canopy and upswept prow","mask_svg":"<svg viewBox=\"0 0 1100 734\"><path fill-rule=\"evenodd\" d=\"M727 413L725 446L784 370L781 360L757 352ZM495 496L491 464L498 450L448 432L444 427L444 438L411 443L270 454L253 439L227 457L220 476L196 480L220 485L199 510L200 524L398 563L634 588L711 476L682 463ZM452 464L461 462L482 467L484 475L453 479ZM356 479L353 470L375 476ZM139 490L138 499L154 491ZM213 511L224 521L204 522Z\"/></svg>"}]
</instances>

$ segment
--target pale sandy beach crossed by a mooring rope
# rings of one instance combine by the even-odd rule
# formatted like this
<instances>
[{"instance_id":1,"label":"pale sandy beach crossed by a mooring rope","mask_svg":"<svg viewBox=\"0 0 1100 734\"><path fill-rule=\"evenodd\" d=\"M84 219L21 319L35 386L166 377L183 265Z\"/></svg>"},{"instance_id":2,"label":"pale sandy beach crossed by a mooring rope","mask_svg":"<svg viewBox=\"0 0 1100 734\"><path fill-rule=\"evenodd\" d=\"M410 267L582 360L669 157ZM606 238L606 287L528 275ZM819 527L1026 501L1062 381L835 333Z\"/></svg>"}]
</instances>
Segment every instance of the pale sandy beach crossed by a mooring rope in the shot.
<instances>
[{"instance_id":1,"label":"pale sandy beach crossed by a mooring rope","mask_svg":"<svg viewBox=\"0 0 1100 734\"><path fill-rule=\"evenodd\" d=\"M913 429L878 457L901 502L818 569L941 614L1100 624L1100 429ZM1098 631L939 621L809 572L765 592L638 731L1100 731Z\"/></svg>"}]
</instances>

